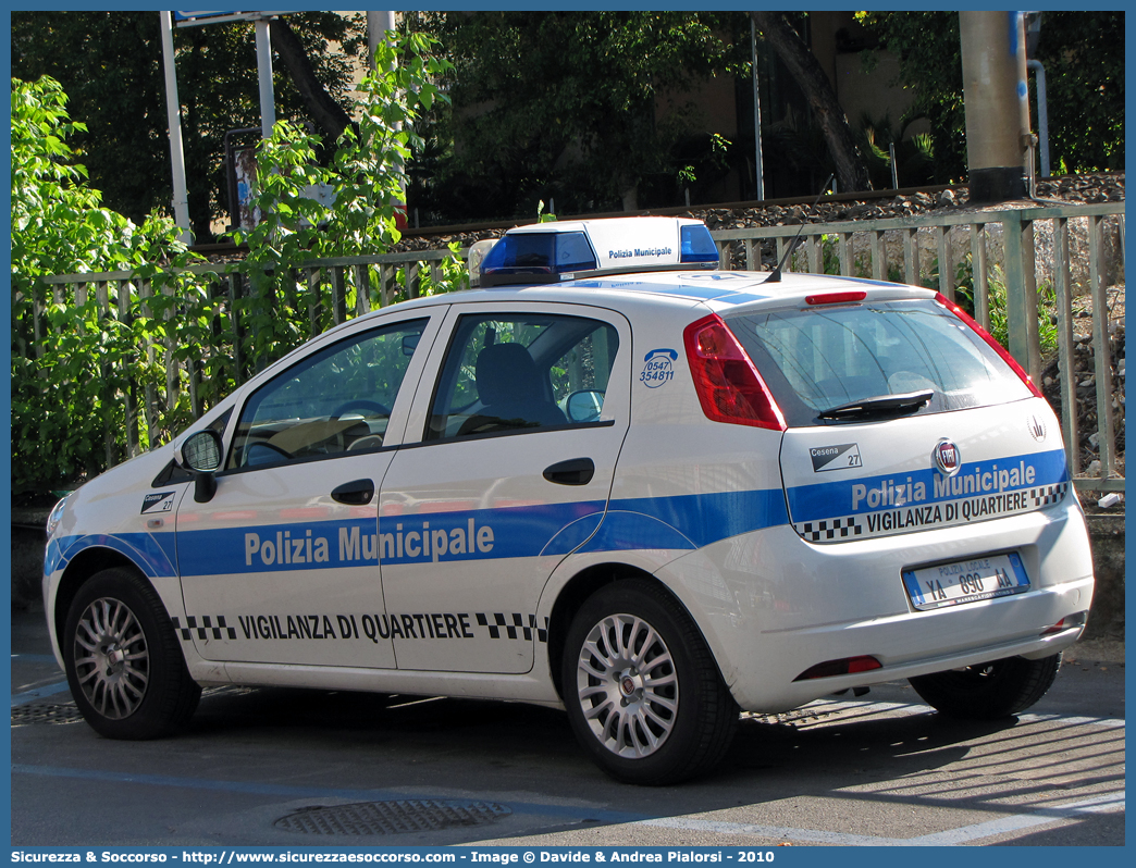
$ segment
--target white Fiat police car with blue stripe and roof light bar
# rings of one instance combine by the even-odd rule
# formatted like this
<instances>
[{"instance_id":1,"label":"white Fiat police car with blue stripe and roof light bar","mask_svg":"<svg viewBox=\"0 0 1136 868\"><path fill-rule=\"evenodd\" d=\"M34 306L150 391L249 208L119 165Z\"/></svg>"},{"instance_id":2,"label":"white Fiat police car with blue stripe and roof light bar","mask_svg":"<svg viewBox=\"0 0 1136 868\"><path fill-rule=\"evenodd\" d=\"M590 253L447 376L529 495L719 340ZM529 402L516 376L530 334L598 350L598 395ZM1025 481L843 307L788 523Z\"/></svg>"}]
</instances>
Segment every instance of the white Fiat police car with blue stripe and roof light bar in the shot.
<instances>
[{"instance_id":1,"label":"white Fiat police car with blue stripe and roof light bar","mask_svg":"<svg viewBox=\"0 0 1136 868\"><path fill-rule=\"evenodd\" d=\"M482 289L320 335L69 495L43 591L87 721L162 735L209 684L562 704L658 784L740 708L1034 703L1093 594L1036 387L928 290L717 260L693 220L513 229Z\"/></svg>"}]
</instances>

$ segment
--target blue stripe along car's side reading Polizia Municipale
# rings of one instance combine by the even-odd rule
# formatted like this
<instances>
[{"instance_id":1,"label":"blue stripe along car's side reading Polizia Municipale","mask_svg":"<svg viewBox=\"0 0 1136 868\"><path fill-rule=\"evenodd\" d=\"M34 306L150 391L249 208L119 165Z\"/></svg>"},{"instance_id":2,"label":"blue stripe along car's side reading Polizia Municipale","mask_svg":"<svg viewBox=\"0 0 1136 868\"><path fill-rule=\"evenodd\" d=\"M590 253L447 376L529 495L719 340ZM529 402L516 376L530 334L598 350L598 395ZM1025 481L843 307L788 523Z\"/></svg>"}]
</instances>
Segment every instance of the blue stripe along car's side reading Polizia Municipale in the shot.
<instances>
[{"instance_id":1,"label":"blue stripe along car's side reading Polizia Municipale","mask_svg":"<svg viewBox=\"0 0 1136 868\"><path fill-rule=\"evenodd\" d=\"M780 490L549 503L181 531L181 575L291 573L306 569L499 560L636 549L694 550L788 521ZM105 545L148 576L174 576L174 535L69 537L49 559L65 566L80 550ZM61 553L60 553L61 552Z\"/></svg>"}]
</instances>

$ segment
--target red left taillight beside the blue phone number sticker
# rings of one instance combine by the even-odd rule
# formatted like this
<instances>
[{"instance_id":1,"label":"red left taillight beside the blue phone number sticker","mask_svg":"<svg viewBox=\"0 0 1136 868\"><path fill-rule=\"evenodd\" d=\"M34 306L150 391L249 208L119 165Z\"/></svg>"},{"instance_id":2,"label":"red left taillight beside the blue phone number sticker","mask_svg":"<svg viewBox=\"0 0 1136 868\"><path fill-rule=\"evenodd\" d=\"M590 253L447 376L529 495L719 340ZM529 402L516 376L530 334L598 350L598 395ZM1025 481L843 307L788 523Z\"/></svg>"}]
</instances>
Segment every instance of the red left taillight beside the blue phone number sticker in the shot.
<instances>
[{"instance_id":1,"label":"red left taillight beside the blue phone number sticker","mask_svg":"<svg viewBox=\"0 0 1136 868\"><path fill-rule=\"evenodd\" d=\"M785 431L785 417L769 389L717 314L683 332L686 360L707 418Z\"/></svg>"}]
</instances>

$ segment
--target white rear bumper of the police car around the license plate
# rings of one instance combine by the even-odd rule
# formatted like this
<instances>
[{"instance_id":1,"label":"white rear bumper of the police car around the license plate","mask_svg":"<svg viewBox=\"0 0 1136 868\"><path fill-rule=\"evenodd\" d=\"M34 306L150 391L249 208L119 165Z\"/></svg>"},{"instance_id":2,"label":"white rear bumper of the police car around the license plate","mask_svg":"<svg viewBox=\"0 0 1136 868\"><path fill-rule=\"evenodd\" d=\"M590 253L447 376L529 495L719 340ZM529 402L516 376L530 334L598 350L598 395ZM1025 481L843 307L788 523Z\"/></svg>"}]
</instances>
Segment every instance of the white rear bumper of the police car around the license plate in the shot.
<instances>
[{"instance_id":1,"label":"white rear bumper of the police car around the license plate","mask_svg":"<svg viewBox=\"0 0 1136 868\"><path fill-rule=\"evenodd\" d=\"M903 569L1017 551L1030 590L917 611ZM845 687L943 671L1004 657L1045 657L1083 629L1043 635L1087 612L1093 564L1070 500L966 528L815 545L787 526L725 540L660 574L703 627L722 677L750 711L784 711ZM795 681L829 660L869 656L882 668Z\"/></svg>"}]
</instances>

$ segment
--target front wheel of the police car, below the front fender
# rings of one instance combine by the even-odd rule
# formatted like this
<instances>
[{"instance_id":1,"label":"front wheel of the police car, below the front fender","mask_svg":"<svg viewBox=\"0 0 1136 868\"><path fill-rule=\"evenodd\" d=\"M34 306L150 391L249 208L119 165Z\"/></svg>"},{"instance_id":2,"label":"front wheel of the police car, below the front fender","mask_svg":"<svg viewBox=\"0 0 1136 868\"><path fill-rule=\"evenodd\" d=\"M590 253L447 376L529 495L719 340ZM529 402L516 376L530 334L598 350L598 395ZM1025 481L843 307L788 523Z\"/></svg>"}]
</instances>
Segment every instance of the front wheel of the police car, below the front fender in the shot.
<instances>
[{"instance_id":1,"label":"front wheel of the police car, below the front fender","mask_svg":"<svg viewBox=\"0 0 1136 868\"><path fill-rule=\"evenodd\" d=\"M100 735L157 738L197 709L201 687L185 668L169 615L132 570L106 569L80 587L61 645L75 704Z\"/></svg>"}]
</instances>

